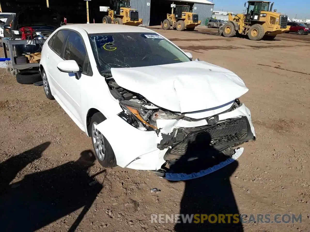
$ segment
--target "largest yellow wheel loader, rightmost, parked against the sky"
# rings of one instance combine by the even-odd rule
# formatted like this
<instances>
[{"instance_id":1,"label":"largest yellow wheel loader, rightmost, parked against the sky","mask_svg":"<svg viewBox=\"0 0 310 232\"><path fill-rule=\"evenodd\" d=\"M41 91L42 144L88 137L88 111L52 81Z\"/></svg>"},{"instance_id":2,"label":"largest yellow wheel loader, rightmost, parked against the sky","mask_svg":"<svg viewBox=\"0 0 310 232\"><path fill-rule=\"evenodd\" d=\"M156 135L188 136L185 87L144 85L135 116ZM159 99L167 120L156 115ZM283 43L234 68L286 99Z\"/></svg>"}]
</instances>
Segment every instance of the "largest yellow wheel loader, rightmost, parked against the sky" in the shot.
<instances>
[{"instance_id":1,"label":"largest yellow wheel loader, rightmost, parked against the sky","mask_svg":"<svg viewBox=\"0 0 310 232\"><path fill-rule=\"evenodd\" d=\"M248 6L246 7L246 3ZM266 1L248 1L244 3L245 14L228 15L229 22L219 28L219 34L233 37L237 33L247 35L250 40L273 40L278 34L288 32L287 15L272 12L273 3ZM270 5L270 7L269 7Z\"/></svg>"}]
</instances>

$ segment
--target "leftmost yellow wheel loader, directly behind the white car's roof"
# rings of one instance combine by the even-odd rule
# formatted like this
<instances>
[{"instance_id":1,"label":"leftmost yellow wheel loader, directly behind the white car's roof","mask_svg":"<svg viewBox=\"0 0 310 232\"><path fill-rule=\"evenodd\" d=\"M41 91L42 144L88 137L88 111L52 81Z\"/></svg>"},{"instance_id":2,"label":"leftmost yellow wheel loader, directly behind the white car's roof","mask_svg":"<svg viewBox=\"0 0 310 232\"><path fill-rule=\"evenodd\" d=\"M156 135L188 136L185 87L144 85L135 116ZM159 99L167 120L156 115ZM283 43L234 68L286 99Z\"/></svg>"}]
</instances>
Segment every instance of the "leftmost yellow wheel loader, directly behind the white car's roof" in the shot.
<instances>
[{"instance_id":1,"label":"leftmost yellow wheel loader, directly behind the white car's roof","mask_svg":"<svg viewBox=\"0 0 310 232\"><path fill-rule=\"evenodd\" d=\"M108 8L108 15L104 16L104 24L125 24L130 26L139 26L143 19L139 19L139 12L130 8L129 0L110 0L111 8Z\"/></svg>"}]
</instances>

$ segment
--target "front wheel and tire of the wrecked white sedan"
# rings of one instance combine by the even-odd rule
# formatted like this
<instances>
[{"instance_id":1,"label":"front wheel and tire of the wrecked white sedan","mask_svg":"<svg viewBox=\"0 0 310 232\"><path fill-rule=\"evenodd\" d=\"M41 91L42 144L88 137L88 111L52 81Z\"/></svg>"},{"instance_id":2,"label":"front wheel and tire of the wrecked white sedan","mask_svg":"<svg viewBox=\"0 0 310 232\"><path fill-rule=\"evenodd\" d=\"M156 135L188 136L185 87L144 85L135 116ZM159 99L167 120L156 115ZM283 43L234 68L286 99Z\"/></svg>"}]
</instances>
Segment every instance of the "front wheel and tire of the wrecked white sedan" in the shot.
<instances>
[{"instance_id":1,"label":"front wheel and tire of the wrecked white sedan","mask_svg":"<svg viewBox=\"0 0 310 232\"><path fill-rule=\"evenodd\" d=\"M116 158L111 144L100 131L95 129L95 126L104 120L106 120L106 118L100 112L95 113L91 117L91 123L89 125L91 129L91 141L98 162L105 168L113 168L116 166Z\"/></svg>"}]
</instances>

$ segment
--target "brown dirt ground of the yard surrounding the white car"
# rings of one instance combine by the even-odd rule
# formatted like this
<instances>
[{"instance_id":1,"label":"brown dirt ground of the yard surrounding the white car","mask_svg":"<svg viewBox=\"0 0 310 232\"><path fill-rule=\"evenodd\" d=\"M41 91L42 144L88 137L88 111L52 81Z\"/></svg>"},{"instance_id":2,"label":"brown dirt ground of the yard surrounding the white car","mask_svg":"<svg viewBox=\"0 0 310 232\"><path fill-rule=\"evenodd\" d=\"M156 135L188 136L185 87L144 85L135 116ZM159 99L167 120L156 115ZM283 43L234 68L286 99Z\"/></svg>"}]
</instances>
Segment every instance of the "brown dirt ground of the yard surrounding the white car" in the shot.
<instances>
[{"instance_id":1,"label":"brown dirt ground of the yard surrounding the white car","mask_svg":"<svg viewBox=\"0 0 310 232\"><path fill-rule=\"evenodd\" d=\"M0 230L309 231L310 35L250 41L215 36L216 29L153 30L244 80L241 101L256 141L242 145L236 163L186 182L105 170L91 156L90 138L42 86L18 84L2 69ZM151 224L152 213L302 214L302 223Z\"/></svg>"}]
</instances>

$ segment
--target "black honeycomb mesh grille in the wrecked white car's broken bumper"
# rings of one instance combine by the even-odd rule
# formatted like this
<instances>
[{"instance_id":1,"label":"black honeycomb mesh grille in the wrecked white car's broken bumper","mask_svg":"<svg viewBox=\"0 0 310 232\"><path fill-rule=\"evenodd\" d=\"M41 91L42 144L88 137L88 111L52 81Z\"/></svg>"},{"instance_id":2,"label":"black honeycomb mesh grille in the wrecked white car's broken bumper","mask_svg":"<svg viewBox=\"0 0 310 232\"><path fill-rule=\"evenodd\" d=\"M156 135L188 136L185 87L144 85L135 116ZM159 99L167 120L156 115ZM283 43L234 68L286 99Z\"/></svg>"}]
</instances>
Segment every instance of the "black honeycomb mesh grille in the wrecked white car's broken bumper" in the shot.
<instances>
[{"instance_id":1,"label":"black honeycomb mesh grille in the wrecked white car's broken bumper","mask_svg":"<svg viewBox=\"0 0 310 232\"><path fill-rule=\"evenodd\" d=\"M250 132L250 133L249 133ZM210 142L215 148L227 148L228 146L242 144L253 135L250 130L250 124L247 118L241 117L229 121L218 122L214 126L206 126L203 129L190 132L182 142L175 144L170 149L170 154L182 156L186 153L189 143L195 143L199 136L199 142ZM249 138L249 137L252 138ZM201 140L205 138L205 140ZM211 139L211 141L210 141ZM209 141L208 141L209 140ZM197 144L199 146L199 144ZM219 150L223 150L219 149Z\"/></svg>"}]
</instances>

